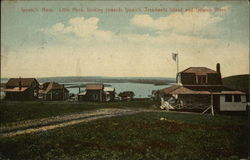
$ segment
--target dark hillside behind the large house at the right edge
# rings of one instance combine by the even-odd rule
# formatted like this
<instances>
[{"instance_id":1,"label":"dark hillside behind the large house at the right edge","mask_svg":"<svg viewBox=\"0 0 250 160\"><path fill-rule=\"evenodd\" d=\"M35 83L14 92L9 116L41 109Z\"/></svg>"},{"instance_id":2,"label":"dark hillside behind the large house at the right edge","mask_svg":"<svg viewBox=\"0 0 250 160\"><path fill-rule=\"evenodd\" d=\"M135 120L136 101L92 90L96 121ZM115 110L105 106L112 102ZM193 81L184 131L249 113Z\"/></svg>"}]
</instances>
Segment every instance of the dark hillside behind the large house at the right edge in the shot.
<instances>
[{"instance_id":1,"label":"dark hillside behind the large house at the right edge","mask_svg":"<svg viewBox=\"0 0 250 160\"><path fill-rule=\"evenodd\" d=\"M222 79L222 82L229 88L240 90L246 93L250 92L250 74L225 77Z\"/></svg>"}]
</instances>

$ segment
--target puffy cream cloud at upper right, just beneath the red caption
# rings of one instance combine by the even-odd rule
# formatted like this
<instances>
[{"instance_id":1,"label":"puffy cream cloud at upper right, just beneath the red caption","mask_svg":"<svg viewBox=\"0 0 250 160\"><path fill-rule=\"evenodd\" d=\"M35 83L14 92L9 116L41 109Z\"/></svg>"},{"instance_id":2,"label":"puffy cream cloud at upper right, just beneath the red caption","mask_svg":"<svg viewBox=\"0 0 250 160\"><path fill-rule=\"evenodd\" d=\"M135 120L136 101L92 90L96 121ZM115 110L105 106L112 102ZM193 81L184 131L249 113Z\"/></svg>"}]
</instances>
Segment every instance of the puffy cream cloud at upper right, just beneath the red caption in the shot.
<instances>
[{"instance_id":1,"label":"puffy cream cloud at upper right, just beneath the red caption","mask_svg":"<svg viewBox=\"0 0 250 160\"><path fill-rule=\"evenodd\" d=\"M214 16L209 12L176 12L157 19L153 19L147 14L135 15L131 19L131 24L160 31L174 30L180 33L187 33L203 30L221 20L223 20L222 17Z\"/></svg>"}]
</instances>

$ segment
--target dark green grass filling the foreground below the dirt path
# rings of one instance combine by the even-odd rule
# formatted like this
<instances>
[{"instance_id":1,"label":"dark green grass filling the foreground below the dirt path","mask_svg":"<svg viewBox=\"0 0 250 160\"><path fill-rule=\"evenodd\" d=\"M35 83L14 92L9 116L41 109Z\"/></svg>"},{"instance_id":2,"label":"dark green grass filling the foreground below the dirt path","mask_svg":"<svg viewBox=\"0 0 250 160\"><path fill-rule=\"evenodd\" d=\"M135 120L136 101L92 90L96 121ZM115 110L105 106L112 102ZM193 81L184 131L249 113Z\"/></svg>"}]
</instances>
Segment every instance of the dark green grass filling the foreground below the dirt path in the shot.
<instances>
[{"instance_id":1,"label":"dark green grass filling the foreground below the dirt path","mask_svg":"<svg viewBox=\"0 0 250 160\"><path fill-rule=\"evenodd\" d=\"M0 138L0 155L10 159L207 160L246 157L246 150L246 117L166 112Z\"/></svg>"}]
</instances>

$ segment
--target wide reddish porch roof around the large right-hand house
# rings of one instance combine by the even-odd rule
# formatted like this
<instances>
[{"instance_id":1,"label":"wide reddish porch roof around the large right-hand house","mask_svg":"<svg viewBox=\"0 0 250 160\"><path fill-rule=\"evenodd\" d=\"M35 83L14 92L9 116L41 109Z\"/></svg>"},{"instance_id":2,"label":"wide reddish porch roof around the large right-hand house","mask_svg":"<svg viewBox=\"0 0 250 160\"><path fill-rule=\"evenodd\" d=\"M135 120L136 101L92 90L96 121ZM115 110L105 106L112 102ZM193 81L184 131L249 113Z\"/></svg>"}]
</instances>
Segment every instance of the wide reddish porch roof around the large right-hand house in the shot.
<instances>
[{"instance_id":1,"label":"wide reddish porch roof around the large right-hand house","mask_svg":"<svg viewBox=\"0 0 250 160\"><path fill-rule=\"evenodd\" d=\"M245 94L225 86L180 86L174 85L160 90L161 94Z\"/></svg>"}]
</instances>

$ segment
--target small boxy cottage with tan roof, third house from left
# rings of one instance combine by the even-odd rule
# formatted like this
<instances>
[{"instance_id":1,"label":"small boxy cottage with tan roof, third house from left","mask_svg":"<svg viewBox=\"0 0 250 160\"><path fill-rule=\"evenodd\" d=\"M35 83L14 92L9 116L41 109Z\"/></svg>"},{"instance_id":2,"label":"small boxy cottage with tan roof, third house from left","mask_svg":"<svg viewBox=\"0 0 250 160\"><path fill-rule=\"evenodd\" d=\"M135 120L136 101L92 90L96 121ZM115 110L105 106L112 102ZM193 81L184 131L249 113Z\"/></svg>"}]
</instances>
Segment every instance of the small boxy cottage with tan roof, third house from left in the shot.
<instances>
[{"instance_id":1,"label":"small boxy cottage with tan roof, third house from left","mask_svg":"<svg viewBox=\"0 0 250 160\"><path fill-rule=\"evenodd\" d=\"M104 101L104 85L103 84L87 84L86 85L86 100L93 102Z\"/></svg>"}]
</instances>

